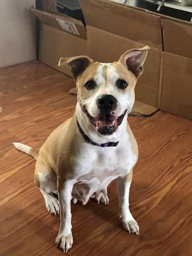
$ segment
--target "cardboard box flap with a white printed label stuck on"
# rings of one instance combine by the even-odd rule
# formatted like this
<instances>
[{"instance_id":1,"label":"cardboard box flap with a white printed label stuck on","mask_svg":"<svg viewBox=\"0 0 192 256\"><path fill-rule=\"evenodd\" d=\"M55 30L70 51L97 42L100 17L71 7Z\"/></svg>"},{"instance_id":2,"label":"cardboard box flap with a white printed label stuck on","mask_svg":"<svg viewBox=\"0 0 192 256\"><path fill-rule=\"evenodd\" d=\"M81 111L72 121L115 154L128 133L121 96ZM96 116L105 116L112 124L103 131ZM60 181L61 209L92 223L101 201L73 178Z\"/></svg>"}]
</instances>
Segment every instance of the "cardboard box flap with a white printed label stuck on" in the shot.
<instances>
[{"instance_id":1,"label":"cardboard box flap with a white printed label stuck on","mask_svg":"<svg viewBox=\"0 0 192 256\"><path fill-rule=\"evenodd\" d=\"M86 29L81 21L65 15L56 15L49 12L39 11L34 8L31 9L31 11L44 24L61 30L62 32L86 39Z\"/></svg>"}]
</instances>

